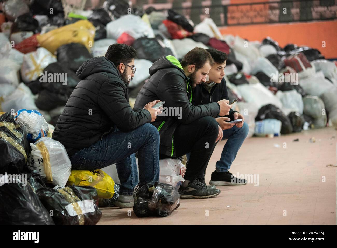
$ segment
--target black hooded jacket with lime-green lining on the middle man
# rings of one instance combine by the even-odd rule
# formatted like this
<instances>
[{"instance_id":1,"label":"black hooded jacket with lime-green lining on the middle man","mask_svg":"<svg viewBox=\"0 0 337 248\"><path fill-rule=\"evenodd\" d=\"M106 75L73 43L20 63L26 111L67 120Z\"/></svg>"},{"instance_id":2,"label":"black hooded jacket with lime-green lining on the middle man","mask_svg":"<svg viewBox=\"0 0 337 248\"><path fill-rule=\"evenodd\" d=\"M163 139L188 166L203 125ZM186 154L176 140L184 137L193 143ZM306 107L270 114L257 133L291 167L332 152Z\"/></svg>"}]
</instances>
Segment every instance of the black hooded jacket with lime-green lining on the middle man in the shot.
<instances>
[{"instance_id":1,"label":"black hooded jacket with lime-green lining on the middle man","mask_svg":"<svg viewBox=\"0 0 337 248\"><path fill-rule=\"evenodd\" d=\"M165 101L164 107L181 107L182 118L158 116L153 124L160 134L160 153L175 157L174 132L179 124L189 124L205 116L217 118L218 103L195 106L193 88L179 61L173 56L161 57L149 69L150 79L137 95L134 107L144 107L153 100Z\"/></svg>"}]
</instances>

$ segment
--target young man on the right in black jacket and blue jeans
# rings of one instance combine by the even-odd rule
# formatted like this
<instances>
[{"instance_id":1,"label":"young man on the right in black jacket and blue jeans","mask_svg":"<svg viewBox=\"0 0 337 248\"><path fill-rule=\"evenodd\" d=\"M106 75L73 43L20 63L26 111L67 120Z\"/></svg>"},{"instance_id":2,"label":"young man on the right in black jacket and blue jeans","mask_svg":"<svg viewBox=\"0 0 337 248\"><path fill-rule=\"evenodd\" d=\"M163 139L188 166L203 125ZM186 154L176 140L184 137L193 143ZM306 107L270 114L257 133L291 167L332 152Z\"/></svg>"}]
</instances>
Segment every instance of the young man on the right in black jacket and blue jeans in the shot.
<instances>
[{"instance_id":1,"label":"young man on the right in black jacket and blue jeans","mask_svg":"<svg viewBox=\"0 0 337 248\"><path fill-rule=\"evenodd\" d=\"M227 55L224 52L216 50L214 48L206 49L214 60L210 72L208 73L208 81L203 82L194 89L195 104L210 104L222 99L228 99L226 81L224 79L224 68L226 66ZM229 123L229 121L242 119L241 122ZM211 185L242 185L246 184L245 179L238 179L229 172L229 168L236 157L243 141L248 134L248 125L244 122L244 117L237 111L232 109L229 111L229 115L221 116L215 119L221 129L223 130L223 136L221 140L228 138L222 153L220 160L216 162L216 169L211 176ZM215 146L214 146L215 147ZM198 177L200 180L205 178L206 167Z\"/></svg>"}]
</instances>

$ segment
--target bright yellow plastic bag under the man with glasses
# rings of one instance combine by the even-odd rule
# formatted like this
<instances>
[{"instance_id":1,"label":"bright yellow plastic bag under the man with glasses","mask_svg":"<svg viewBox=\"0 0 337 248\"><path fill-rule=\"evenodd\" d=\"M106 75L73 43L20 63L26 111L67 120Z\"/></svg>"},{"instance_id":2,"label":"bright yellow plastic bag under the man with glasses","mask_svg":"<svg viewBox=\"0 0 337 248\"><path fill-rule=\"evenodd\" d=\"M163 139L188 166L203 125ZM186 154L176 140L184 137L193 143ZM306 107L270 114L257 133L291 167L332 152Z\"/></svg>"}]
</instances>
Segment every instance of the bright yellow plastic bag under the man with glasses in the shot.
<instances>
[{"instance_id":1,"label":"bright yellow plastic bag under the man with glasses","mask_svg":"<svg viewBox=\"0 0 337 248\"><path fill-rule=\"evenodd\" d=\"M72 170L67 185L72 184L94 187L99 198L110 199L115 193L114 180L101 169L95 171Z\"/></svg>"}]
</instances>

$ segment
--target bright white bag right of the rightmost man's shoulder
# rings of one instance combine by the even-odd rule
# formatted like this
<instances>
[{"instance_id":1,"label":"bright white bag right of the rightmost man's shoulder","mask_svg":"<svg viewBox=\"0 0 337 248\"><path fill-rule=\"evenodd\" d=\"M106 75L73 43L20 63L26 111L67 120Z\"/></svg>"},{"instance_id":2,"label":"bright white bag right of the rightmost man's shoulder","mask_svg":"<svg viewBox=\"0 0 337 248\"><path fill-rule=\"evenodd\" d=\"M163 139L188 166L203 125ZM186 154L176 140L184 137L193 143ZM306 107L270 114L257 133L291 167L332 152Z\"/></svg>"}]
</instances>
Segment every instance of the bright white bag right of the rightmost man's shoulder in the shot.
<instances>
[{"instance_id":1,"label":"bright white bag right of the rightmost man's shoulder","mask_svg":"<svg viewBox=\"0 0 337 248\"><path fill-rule=\"evenodd\" d=\"M267 104L282 108L281 101L261 83L237 85L237 89L246 102L253 103L258 109Z\"/></svg>"}]
</instances>

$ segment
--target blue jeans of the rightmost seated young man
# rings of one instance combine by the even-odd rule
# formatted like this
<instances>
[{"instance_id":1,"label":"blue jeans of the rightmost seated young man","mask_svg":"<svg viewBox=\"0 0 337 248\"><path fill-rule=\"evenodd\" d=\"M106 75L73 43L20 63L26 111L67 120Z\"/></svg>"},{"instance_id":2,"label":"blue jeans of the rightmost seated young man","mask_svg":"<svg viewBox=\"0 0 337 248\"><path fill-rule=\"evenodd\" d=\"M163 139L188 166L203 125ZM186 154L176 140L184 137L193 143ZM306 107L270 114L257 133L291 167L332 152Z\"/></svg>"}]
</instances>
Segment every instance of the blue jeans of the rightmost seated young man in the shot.
<instances>
[{"instance_id":1,"label":"blue jeans of the rightmost seated young man","mask_svg":"<svg viewBox=\"0 0 337 248\"><path fill-rule=\"evenodd\" d=\"M226 140L228 138L228 141L226 142L225 146L222 149L221 157L218 162L216 162L215 167L217 172L227 172L229 171L229 168L231 168L231 165L236 157L236 154L238 153L243 141L247 137L248 134L248 125L246 122L243 123L243 126L241 128L238 128L237 126L233 126L232 128L222 130L223 137L222 141ZM215 146L213 147L213 149ZM190 158L190 153L186 154L187 160ZM207 165L206 165L207 167ZM198 178L204 178L206 167L200 174L198 175Z\"/></svg>"}]
</instances>

